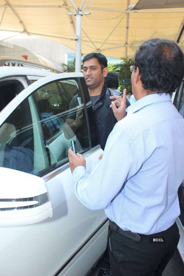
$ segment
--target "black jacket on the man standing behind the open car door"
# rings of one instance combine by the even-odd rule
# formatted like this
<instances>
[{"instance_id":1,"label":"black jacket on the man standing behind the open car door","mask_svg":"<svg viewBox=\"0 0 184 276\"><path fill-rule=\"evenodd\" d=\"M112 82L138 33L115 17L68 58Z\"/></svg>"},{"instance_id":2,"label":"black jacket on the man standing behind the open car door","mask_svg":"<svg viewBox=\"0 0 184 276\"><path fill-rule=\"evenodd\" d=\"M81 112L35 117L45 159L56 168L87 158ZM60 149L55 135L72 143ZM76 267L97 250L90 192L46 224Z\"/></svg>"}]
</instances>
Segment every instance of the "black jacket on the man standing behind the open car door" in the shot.
<instances>
[{"instance_id":1,"label":"black jacket on the man standing behind the open car door","mask_svg":"<svg viewBox=\"0 0 184 276\"><path fill-rule=\"evenodd\" d=\"M98 130L99 144L103 150L105 148L109 133L113 130L114 125L117 123L113 110L109 107L112 102L109 97L114 95L122 95L122 93L118 93L104 85L101 97L95 103L93 108L95 123ZM127 100L127 107L129 105L130 103Z\"/></svg>"}]
</instances>

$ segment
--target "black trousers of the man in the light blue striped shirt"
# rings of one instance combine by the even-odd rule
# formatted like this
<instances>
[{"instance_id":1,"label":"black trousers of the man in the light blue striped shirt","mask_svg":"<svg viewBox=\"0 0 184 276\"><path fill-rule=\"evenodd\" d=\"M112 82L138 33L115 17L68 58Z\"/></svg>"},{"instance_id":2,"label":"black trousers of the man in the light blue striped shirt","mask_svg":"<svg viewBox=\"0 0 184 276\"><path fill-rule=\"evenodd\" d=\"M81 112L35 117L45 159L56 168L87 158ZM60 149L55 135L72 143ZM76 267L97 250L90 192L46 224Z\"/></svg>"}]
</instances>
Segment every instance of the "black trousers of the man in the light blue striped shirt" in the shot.
<instances>
[{"instance_id":1,"label":"black trousers of the man in the light blue striped shirt","mask_svg":"<svg viewBox=\"0 0 184 276\"><path fill-rule=\"evenodd\" d=\"M179 231L174 223L163 232L140 234L141 240L132 240L109 228L108 249L112 276L161 276L174 254ZM165 242L151 243L153 238Z\"/></svg>"}]
</instances>

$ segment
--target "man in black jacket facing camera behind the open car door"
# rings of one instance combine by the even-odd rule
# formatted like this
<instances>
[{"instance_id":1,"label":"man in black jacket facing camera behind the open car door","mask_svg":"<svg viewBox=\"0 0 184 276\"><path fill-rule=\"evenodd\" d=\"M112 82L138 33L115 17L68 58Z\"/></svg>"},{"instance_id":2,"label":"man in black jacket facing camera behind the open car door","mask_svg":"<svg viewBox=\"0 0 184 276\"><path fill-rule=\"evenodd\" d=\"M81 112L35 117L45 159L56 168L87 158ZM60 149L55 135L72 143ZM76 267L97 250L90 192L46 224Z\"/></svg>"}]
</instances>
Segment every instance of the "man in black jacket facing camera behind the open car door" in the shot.
<instances>
[{"instance_id":1,"label":"man in black jacket facing camera behind the open car door","mask_svg":"<svg viewBox=\"0 0 184 276\"><path fill-rule=\"evenodd\" d=\"M90 53L83 59L83 75L88 87L88 92L93 106L95 123L98 130L99 143L105 148L106 140L117 123L113 110L110 108L110 96L120 95L109 89L105 83L107 76L107 59L100 53ZM127 106L130 103L127 100Z\"/></svg>"}]
</instances>

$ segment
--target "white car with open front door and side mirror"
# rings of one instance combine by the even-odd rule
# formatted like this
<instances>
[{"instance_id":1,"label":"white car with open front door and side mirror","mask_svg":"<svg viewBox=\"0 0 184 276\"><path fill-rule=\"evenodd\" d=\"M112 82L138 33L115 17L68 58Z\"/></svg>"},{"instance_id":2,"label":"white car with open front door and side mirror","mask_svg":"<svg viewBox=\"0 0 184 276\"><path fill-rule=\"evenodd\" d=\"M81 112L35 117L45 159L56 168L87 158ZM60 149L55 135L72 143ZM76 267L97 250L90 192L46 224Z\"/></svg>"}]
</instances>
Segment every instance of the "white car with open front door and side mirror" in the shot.
<instances>
[{"instance_id":1,"label":"white car with open front door and side mirror","mask_svg":"<svg viewBox=\"0 0 184 276\"><path fill-rule=\"evenodd\" d=\"M87 275L108 220L76 198L68 163L71 140L89 173L102 152L83 75L0 67L0 87L0 274Z\"/></svg>"}]
</instances>

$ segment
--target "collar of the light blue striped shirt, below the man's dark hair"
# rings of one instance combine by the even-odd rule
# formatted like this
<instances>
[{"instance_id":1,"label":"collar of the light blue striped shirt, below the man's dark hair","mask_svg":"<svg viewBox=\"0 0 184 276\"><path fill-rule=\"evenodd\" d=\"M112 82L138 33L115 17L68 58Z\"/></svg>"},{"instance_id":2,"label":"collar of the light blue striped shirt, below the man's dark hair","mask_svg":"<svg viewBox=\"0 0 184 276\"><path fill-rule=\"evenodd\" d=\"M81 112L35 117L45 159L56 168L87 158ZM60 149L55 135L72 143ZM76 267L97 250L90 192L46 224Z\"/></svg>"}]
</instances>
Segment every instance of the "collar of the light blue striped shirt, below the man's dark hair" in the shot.
<instances>
[{"instance_id":1,"label":"collar of the light blue striped shirt, below the man's dark hair","mask_svg":"<svg viewBox=\"0 0 184 276\"><path fill-rule=\"evenodd\" d=\"M162 93L162 94L150 94L141 98L140 100L134 102L132 105L128 106L126 112L128 114L135 113L136 111L140 110L141 108L145 107L146 105L153 104L155 102L164 102L170 101L171 97L170 94Z\"/></svg>"}]
</instances>

